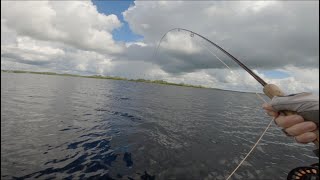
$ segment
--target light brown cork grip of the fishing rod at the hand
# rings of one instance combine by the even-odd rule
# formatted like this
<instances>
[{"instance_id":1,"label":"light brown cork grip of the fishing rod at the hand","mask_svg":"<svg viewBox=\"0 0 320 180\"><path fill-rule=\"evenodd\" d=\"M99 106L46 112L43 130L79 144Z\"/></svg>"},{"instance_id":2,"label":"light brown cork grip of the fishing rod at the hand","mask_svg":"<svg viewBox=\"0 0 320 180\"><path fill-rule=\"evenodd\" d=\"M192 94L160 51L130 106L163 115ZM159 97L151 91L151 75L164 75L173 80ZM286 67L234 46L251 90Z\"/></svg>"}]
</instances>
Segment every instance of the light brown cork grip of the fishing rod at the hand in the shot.
<instances>
[{"instance_id":1,"label":"light brown cork grip of the fishing rod at the hand","mask_svg":"<svg viewBox=\"0 0 320 180\"><path fill-rule=\"evenodd\" d=\"M285 95L281 91L281 89L274 84L267 84L266 86L264 86L263 92L270 99L272 99L274 96L284 96ZM293 111L283 111L283 113L287 116L297 114L296 112L293 112ZM308 121L308 119L305 119L305 120ZM313 143L317 146L317 148L319 148L319 127L313 132L316 133L316 135L317 135L317 139L315 141L313 141Z\"/></svg>"}]
</instances>

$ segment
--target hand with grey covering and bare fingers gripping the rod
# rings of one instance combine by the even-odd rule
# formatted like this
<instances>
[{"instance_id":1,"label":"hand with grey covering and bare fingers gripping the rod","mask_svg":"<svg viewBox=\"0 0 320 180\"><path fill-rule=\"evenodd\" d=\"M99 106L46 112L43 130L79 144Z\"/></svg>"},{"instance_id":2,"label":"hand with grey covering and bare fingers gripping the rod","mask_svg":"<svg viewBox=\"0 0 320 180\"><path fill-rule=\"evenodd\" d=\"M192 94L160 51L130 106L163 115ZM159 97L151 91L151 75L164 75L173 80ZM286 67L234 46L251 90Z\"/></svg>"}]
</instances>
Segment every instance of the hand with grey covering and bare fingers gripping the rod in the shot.
<instances>
[{"instance_id":1,"label":"hand with grey covering and bare fingers gripping the rod","mask_svg":"<svg viewBox=\"0 0 320 180\"><path fill-rule=\"evenodd\" d=\"M318 96L300 93L274 97L270 104L263 104L263 108L268 115L275 118L275 123L282 127L287 135L294 136L297 142L309 143L317 139L317 134L313 131L317 129L317 124L319 124ZM295 111L298 114L284 116L279 113L283 110ZM309 121L305 121L305 118Z\"/></svg>"}]
</instances>

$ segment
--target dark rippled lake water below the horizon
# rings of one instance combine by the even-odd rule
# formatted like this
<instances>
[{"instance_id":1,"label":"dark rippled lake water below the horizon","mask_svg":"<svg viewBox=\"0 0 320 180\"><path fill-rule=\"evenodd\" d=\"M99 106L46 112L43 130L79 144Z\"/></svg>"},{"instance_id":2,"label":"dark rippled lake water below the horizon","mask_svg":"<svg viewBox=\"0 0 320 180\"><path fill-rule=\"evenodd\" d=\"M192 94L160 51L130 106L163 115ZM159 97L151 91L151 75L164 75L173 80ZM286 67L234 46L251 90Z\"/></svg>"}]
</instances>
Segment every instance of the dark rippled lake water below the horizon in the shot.
<instances>
[{"instance_id":1,"label":"dark rippled lake water below the horizon","mask_svg":"<svg viewBox=\"0 0 320 180\"><path fill-rule=\"evenodd\" d=\"M1 179L225 179L270 118L254 94L1 73ZM233 179L317 161L272 127Z\"/></svg>"}]
</instances>

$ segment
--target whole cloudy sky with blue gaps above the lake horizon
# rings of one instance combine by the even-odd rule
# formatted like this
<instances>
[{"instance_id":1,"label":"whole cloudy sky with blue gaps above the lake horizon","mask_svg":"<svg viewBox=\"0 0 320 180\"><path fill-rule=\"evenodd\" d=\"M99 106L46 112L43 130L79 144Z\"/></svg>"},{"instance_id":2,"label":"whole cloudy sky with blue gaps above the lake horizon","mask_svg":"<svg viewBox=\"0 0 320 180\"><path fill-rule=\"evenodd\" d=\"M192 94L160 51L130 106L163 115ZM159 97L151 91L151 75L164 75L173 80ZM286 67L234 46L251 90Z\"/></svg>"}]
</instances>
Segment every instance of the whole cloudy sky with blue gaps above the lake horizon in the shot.
<instances>
[{"instance_id":1,"label":"whole cloudy sky with blue gaps above the lake horizon","mask_svg":"<svg viewBox=\"0 0 320 180\"><path fill-rule=\"evenodd\" d=\"M319 94L318 1L1 1L1 69ZM232 70L226 68L223 61ZM259 89L258 89L259 90Z\"/></svg>"}]
</instances>

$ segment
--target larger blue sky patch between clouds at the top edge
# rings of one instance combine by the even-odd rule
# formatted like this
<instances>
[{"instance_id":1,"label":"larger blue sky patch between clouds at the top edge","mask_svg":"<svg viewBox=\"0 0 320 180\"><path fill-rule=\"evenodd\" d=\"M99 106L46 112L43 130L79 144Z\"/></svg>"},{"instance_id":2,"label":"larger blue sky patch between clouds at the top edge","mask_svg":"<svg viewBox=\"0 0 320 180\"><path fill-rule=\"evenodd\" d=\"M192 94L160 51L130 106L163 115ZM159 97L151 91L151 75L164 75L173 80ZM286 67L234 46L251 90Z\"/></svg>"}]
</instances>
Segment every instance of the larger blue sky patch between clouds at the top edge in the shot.
<instances>
[{"instance_id":1,"label":"larger blue sky patch between clouds at the top edge","mask_svg":"<svg viewBox=\"0 0 320 180\"><path fill-rule=\"evenodd\" d=\"M134 5L133 0L112 0L112 1L97 1L93 0L93 4L97 10L103 14L115 14L123 24L120 28L112 32L113 38L116 41L134 42L139 41L143 37L131 31L128 23L124 20L122 12L127 10L131 5Z\"/></svg>"}]
</instances>

